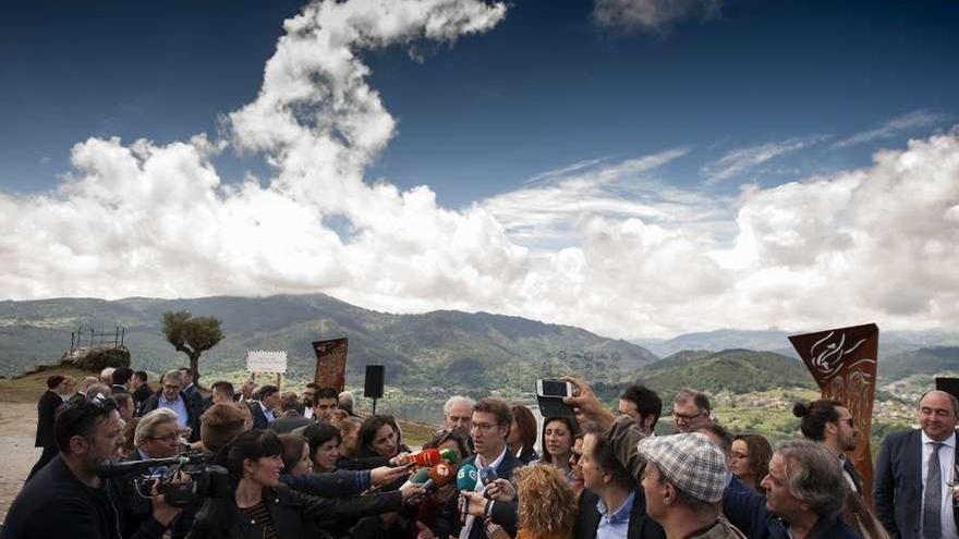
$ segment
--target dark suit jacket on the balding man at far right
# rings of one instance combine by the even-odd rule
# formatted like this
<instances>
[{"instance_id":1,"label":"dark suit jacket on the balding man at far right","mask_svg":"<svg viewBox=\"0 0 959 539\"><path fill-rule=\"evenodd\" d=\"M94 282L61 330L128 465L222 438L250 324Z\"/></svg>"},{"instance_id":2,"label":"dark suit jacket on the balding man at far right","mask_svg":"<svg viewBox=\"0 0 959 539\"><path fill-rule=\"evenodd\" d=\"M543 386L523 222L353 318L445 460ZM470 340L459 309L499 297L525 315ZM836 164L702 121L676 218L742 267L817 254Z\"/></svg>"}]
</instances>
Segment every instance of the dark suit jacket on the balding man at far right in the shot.
<instances>
[{"instance_id":1,"label":"dark suit jacket on the balding man at far right","mask_svg":"<svg viewBox=\"0 0 959 539\"><path fill-rule=\"evenodd\" d=\"M954 452L959 455L959 451ZM876 460L873 502L893 537L919 537L922 523L922 431L895 432L883 440ZM959 511L952 512L959 526Z\"/></svg>"}]
</instances>

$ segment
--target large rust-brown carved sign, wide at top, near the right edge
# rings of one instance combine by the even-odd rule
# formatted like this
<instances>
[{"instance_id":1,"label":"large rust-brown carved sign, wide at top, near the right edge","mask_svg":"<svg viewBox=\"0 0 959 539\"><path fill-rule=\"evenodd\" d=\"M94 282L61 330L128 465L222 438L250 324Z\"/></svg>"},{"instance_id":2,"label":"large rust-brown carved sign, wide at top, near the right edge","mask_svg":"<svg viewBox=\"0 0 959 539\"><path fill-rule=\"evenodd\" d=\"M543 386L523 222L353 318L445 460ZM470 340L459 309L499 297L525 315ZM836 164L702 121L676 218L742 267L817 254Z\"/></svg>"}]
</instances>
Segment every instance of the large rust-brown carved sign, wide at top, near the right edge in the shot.
<instances>
[{"instance_id":1,"label":"large rust-brown carved sign, wide at top, near the right edge","mask_svg":"<svg viewBox=\"0 0 959 539\"><path fill-rule=\"evenodd\" d=\"M852 414L860 437L849 458L862 477L863 498L871 503L873 463L869 439L876 393L878 326L867 323L792 335L789 342L820 385L823 399L841 402Z\"/></svg>"}]
</instances>

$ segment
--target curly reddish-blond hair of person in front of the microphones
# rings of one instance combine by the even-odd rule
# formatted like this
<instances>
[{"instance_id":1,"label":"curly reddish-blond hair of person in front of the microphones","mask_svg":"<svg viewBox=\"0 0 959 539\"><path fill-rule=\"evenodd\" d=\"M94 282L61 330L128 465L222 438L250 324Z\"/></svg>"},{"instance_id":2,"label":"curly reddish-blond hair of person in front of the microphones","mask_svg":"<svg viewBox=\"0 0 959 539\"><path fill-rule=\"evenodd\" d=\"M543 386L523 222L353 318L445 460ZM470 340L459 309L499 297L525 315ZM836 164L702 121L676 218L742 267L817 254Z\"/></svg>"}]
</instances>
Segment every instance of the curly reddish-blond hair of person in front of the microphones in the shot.
<instances>
[{"instance_id":1,"label":"curly reddish-blond hair of person in front of the microphones","mask_svg":"<svg viewBox=\"0 0 959 539\"><path fill-rule=\"evenodd\" d=\"M530 537L570 536L576 520L576 495L566 477L548 464L513 471L519 499L519 526Z\"/></svg>"}]
</instances>

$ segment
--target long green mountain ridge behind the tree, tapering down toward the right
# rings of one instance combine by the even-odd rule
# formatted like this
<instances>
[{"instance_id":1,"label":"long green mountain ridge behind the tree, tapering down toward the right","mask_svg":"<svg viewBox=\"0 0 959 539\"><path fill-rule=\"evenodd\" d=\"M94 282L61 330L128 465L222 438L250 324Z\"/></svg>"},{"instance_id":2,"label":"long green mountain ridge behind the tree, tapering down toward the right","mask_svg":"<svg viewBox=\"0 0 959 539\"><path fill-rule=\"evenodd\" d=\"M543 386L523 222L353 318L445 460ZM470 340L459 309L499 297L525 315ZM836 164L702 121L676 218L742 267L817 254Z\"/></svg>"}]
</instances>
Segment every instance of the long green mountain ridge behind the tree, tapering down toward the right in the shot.
<instances>
[{"instance_id":1,"label":"long green mountain ridge behind the tree, tapering down toward the right","mask_svg":"<svg viewBox=\"0 0 959 539\"><path fill-rule=\"evenodd\" d=\"M569 326L486 313L392 315L323 294L61 298L0 302L0 373L56 363L70 346L70 332L81 323L102 327L110 334L113 327L125 327L125 343L137 367L161 371L182 365L185 356L175 353L160 332L160 315L167 310L222 319L226 339L201 359L203 372L242 371L247 350L286 350L289 376L312 377L311 342L340 336L350 339L350 383L362 381L366 365L383 364L388 383L409 388L529 391L543 376L584 372L614 379L657 359L635 344Z\"/></svg>"}]
</instances>

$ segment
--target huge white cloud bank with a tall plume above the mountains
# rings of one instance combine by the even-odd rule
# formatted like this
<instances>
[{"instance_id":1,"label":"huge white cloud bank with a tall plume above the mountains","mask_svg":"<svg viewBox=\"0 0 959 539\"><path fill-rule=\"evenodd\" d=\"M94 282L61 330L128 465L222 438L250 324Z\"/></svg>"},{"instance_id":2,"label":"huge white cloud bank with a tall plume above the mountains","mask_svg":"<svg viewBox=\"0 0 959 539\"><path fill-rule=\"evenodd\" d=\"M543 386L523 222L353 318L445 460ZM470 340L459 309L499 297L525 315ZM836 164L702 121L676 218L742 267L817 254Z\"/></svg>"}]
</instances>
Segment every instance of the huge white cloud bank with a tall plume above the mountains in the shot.
<instances>
[{"instance_id":1,"label":"huge white cloud bank with a tall plume above the mountains","mask_svg":"<svg viewBox=\"0 0 959 539\"><path fill-rule=\"evenodd\" d=\"M265 152L272 177L222 183L211 159L227 143L203 135L80 143L56 192L0 193L0 291L327 292L368 308L483 309L612 336L959 323L959 128L861 170L731 199L656 177L684 148L575 163L461 210L425 186L364 182L394 120L359 51L453 39L502 16L469 0L311 4L287 23L259 95L229 117L229 144ZM731 177L724 171L809 144L740 150L712 171Z\"/></svg>"}]
</instances>

